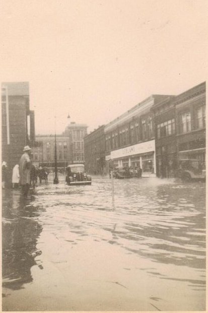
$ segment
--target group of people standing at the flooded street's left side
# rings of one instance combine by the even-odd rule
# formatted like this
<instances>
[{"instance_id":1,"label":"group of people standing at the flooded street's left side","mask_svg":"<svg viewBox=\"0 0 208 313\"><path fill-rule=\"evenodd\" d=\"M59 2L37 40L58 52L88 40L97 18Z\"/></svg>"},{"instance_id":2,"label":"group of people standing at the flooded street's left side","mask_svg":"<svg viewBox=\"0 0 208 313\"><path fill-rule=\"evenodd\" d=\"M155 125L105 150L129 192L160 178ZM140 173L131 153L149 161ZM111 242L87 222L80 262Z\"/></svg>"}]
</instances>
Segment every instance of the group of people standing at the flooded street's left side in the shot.
<instances>
[{"instance_id":1,"label":"group of people standing at the flooded street's left side","mask_svg":"<svg viewBox=\"0 0 208 313\"><path fill-rule=\"evenodd\" d=\"M37 169L31 160L31 148L25 146L23 149L23 155L20 158L19 164L16 164L12 172L12 186L13 188L21 186L22 194L25 199L30 199L28 197L30 186L35 189L35 184L37 183L37 178L39 177L40 183L42 179L47 182L48 169L39 165ZM7 162L2 163L2 187L5 189L6 182L8 180L8 166Z\"/></svg>"}]
</instances>

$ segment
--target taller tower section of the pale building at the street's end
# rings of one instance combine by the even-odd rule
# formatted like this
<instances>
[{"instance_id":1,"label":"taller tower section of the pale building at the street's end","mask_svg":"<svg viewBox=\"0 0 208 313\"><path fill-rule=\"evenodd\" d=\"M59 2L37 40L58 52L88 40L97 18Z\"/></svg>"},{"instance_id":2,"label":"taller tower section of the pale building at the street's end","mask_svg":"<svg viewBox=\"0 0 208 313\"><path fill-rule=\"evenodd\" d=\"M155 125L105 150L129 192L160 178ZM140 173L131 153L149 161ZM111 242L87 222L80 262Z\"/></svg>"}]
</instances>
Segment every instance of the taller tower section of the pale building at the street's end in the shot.
<instances>
[{"instance_id":1,"label":"taller tower section of the pale building at the street's end","mask_svg":"<svg viewBox=\"0 0 208 313\"><path fill-rule=\"evenodd\" d=\"M84 137L87 135L87 128L86 124L76 124L76 122L71 122L65 128L63 134L68 136L70 141L69 163L85 162Z\"/></svg>"}]
</instances>

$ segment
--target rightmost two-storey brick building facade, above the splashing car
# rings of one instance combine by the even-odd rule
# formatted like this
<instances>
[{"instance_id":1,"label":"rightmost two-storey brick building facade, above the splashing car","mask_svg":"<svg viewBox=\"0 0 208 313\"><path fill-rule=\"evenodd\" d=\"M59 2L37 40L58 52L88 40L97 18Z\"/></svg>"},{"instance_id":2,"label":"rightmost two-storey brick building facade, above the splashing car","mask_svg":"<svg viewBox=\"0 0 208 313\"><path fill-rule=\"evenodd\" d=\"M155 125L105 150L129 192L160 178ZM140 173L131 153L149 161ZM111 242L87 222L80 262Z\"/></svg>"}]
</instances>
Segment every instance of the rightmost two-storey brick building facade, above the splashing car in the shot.
<instances>
[{"instance_id":1,"label":"rightmost two-storey brick building facade, above the splashing car","mask_svg":"<svg viewBox=\"0 0 208 313\"><path fill-rule=\"evenodd\" d=\"M177 158L198 159L205 168L205 82L175 98Z\"/></svg>"}]
</instances>

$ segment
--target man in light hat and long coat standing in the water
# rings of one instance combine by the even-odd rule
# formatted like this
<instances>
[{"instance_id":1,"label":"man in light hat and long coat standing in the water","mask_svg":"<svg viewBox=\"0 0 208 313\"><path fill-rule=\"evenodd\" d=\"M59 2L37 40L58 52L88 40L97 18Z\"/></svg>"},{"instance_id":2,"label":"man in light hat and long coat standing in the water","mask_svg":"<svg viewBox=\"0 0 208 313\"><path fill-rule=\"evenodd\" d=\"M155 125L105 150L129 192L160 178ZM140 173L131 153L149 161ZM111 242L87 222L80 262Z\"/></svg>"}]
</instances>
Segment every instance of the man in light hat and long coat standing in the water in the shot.
<instances>
[{"instance_id":1,"label":"man in light hat and long coat standing in the water","mask_svg":"<svg viewBox=\"0 0 208 313\"><path fill-rule=\"evenodd\" d=\"M25 146L24 154L20 159L20 183L22 185L22 193L25 199L30 199L28 197L29 187L30 187L30 170L31 170L31 161L30 154L31 148L29 146Z\"/></svg>"}]
</instances>

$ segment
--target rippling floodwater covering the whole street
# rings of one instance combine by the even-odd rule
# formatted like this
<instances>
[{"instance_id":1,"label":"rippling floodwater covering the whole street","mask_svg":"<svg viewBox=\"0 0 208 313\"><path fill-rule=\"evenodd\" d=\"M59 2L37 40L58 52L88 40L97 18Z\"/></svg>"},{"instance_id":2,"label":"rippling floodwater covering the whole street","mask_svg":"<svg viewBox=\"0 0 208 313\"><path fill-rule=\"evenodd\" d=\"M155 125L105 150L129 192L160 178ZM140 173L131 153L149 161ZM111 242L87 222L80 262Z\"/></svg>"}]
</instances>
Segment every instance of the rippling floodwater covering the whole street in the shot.
<instances>
[{"instance_id":1,"label":"rippling floodwater covering the whole street","mask_svg":"<svg viewBox=\"0 0 208 313\"><path fill-rule=\"evenodd\" d=\"M205 183L3 191L3 310L205 310Z\"/></svg>"}]
</instances>

